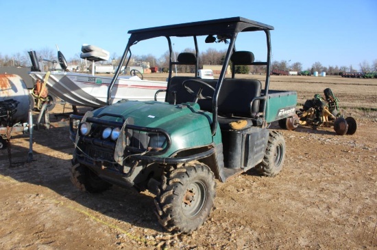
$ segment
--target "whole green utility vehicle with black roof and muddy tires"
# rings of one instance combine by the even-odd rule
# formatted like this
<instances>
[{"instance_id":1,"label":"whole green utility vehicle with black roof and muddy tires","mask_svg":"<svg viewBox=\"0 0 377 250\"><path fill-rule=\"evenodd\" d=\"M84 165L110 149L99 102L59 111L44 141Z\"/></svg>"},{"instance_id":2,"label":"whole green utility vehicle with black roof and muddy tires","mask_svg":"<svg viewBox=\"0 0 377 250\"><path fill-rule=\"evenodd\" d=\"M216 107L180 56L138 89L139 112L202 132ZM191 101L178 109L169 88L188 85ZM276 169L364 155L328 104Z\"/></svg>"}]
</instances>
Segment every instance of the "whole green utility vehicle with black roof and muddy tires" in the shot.
<instances>
[{"instance_id":1,"label":"whole green utility vehicle with black roof and muddy tires","mask_svg":"<svg viewBox=\"0 0 377 250\"><path fill-rule=\"evenodd\" d=\"M106 191L112 184L149 190L156 195L161 225L190 233L210 214L215 178L225 182L253 167L264 176L276 176L284 163L285 142L269 124L295 115L297 94L269 90L270 30L272 26L234 17L128 31L130 38L108 88L108 106L84 117L71 115L73 184L90 193ZM256 39L260 36L249 38L256 33L262 34L262 46ZM132 46L151 38L169 47L167 89L156 93L165 94L165 102L155 97L110 105L112 86L121 66L130 62ZM180 39L193 43L193 53L180 53L173 60L173 46ZM236 50L236 42L242 50ZM199 44L225 51L219 79L197 76ZM243 49L252 44L258 54L265 50L263 61ZM177 76L174 68L182 65L193 76ZM264 86L256 79L241 79L249 77L245 74L235 75L239 66L264 67ZM230 68L232 74L227 74Z\"/></svg>"}]
</instances>

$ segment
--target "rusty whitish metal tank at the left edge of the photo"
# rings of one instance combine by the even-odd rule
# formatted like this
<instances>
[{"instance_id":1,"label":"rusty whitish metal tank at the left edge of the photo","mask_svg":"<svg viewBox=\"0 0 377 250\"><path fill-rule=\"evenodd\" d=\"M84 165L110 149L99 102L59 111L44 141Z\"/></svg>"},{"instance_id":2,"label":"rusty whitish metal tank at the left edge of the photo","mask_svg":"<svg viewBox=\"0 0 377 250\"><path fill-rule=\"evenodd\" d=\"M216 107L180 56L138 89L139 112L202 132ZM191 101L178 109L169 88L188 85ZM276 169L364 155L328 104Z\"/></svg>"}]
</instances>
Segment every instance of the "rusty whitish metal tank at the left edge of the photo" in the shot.
<instances>
[{"instance_id":1,"label":"rusty whitish metal tank at the left edge of the photo","mask_svg":"<svg viewBox=\"0 0 377 250\"><path fill-rule=\"evenodd\" d=\"M0 102L12 99L19 102L12 115L12 123L27 122L29 107L34 105L34 99L25 82L16 74L0 74Z\"/></svg>"}]
</instances>

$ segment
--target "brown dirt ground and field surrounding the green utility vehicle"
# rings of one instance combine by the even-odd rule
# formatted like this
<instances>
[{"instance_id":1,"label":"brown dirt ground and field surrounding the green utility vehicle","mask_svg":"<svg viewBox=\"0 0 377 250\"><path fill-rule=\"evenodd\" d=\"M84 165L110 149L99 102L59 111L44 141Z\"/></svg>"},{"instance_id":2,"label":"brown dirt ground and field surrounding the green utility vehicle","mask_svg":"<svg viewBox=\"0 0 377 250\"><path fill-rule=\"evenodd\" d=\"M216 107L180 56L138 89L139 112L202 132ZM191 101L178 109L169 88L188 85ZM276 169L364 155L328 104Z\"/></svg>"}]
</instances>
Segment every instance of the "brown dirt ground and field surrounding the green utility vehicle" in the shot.
<instances>
[{"instance_id":1,"label":"brown dirt ground and field surrounding the green utility vehicle","mask_svg":"<svg viewBox=\"0 0 377 250\"><path fill-rule=\"evenodd\" d=\"M0 151L0 248L377 249L377 80L271 79L271 88L297 91L300 103L326 87L346 107L344 115L356 118L356 134L272 124L287 144L281 173L267 178L250 171L217 181L215 207L191 235L166 232L148 192L75 189L73 143L58 105L50 114L53 128L34 131L32 163L24 163L27 135L12 138L16 166Z\"/></svg>"}]
</instances>

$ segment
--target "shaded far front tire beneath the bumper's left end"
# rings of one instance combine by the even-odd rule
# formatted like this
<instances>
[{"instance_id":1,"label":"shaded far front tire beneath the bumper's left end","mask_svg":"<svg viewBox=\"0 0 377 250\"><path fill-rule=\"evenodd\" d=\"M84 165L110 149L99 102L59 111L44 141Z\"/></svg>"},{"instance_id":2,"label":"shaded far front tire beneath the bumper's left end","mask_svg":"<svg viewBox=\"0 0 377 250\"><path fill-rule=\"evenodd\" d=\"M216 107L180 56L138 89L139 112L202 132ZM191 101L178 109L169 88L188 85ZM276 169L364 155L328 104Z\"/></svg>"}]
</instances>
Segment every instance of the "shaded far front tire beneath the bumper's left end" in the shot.
<instances>
[{"instance_id":1,"label":"shaded far front tire beneath the bumper's left end","mask_svg":"<svg viewBox=\"0 0 377 250\"><path fill-rule=\"evenodd\" d=\"M81 164L71 167L71 182L81 191L88 193L101 193L112 186L112 184L102 180L96 173Z\"/></svg>"}]
</instances>

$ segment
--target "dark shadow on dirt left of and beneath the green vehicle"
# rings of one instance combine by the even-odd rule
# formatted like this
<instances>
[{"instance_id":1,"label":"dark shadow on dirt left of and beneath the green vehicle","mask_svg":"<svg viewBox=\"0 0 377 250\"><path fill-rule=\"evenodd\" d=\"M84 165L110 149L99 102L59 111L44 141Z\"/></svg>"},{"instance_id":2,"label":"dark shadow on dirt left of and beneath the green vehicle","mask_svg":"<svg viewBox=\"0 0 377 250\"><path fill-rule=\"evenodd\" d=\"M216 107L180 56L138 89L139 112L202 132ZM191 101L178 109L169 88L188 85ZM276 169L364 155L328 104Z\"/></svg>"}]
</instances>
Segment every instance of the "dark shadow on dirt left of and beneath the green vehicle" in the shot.
<instances>
[{"instance_id":1,"label":"dark shadow on dirt left of and beneath the green vehicle","mask_svg":"<svg viewBox=\"0 0 377 250\"><path fill-rule=\"evenodd\" d=\"M52 124L54 125L54 124ZM153 197L136 190L118 186L104 193L90 194L76 189L71 183L69 168L73 143L69 128L57 126L49 130L34 131L33 161L26 163L29 151L28 135L14 135L11 140L12 165L8 150L0 151L0 174L18 182L45 186L61 195L113 219L164 232L156 215ZM10 189L12 183L10 182Z\"/></svg>"}]
</instances>

